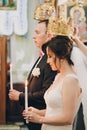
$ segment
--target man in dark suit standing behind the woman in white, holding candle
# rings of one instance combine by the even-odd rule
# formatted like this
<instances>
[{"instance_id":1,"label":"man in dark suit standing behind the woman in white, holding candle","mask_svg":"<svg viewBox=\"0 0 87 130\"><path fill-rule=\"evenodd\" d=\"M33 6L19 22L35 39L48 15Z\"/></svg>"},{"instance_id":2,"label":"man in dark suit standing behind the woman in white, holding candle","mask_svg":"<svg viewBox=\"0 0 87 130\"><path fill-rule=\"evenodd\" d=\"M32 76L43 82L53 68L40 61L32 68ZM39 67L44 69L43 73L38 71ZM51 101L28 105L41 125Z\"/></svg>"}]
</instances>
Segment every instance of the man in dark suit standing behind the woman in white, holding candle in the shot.
<instances>
[{"instance_id":1,"label":"man in dark suit standing behind the woman in white, holding candle","mask_svg":"<svg viewBox=\"0 0 87 130\"><path fill-rule=\"evenodd\" d=\"M47 64L47 54L46 54L46 42L52 38L51 34L47 33L48 20L44 20L38 23L35 29L34 42L36 46L43 52L42 57L38 58L35 62L34 67L40 69L40 75L38 77L32 75L32 70L28 76L29 90L28 90L28 101L29 106L33 106L37 109L44 109L46 107L44 101L44 93L48 87L52 84L57 72L52 71L49 64ZM24 93L17 90L9 91L10 100L19 101L21 105L24 106ZM29 122L27 125L29 130L41 130L41 124L35 124Z\"/></svg>"}]
</instances>

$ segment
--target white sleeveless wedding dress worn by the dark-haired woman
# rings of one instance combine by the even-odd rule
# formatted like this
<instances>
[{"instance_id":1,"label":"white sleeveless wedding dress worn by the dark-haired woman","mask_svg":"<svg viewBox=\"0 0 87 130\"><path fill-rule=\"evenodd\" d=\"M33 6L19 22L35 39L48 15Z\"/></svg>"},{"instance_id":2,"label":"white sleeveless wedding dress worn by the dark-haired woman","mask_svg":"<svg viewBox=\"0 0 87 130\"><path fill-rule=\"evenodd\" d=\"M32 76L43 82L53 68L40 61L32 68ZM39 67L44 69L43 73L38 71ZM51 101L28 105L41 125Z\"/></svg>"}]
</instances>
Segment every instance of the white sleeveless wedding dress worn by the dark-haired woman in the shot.
<instances>
[{"instance_id":1,"label":"white sleeveless wedding dress worn by the dark-haired woman","mask_svg":"<svg viewBox=\"0 0 87 130\"><path fill-rule=\"evenodd\" d=\"M74 74L68 74L66 76L71 76L72 78L77 79L77 76ZM63 80L61 82L57 83L58 77L59 77L59 74L55 77L53 84L50 86L50 88L46 91L46 93L44 95L46 106L47 106L45 116L58 115L58 114L62 113L62 111L63 111L63 97L62 97ZM78 98L76 113L77 113L78 108L81 103L81 95ZM75 113L75 115L76 115L76 113ZM55 125L43 124L41 130L72 130L72 125L55 126Z\"/></svg>"}]
</instances>

